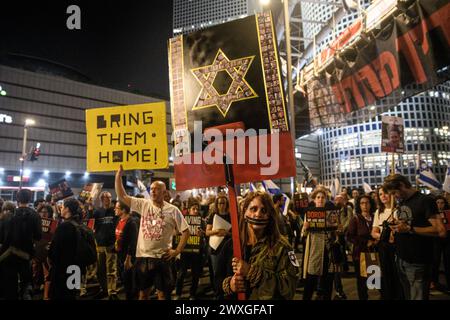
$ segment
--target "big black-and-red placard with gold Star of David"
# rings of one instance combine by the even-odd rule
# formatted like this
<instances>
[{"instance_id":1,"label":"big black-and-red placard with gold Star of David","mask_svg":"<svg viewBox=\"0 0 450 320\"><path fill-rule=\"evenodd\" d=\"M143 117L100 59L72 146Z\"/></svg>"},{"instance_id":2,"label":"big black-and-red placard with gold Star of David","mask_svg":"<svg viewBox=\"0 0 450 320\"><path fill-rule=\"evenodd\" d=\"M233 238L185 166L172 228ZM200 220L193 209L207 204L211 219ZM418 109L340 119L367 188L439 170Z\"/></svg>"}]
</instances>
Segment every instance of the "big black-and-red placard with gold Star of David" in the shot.
<instances>
[{"instance_id":1,"label":"big black-and-red placard with gold Star of David","mask_svg":"<svg viewBox=\"0 0 450 320\"><path fill-rule=\"evenodd\" d=\"M272 16L169 40L177 190L295 175ZM267 170L265 170L267 169Z\"/></svg>"}]
</instances>

